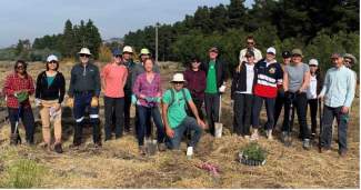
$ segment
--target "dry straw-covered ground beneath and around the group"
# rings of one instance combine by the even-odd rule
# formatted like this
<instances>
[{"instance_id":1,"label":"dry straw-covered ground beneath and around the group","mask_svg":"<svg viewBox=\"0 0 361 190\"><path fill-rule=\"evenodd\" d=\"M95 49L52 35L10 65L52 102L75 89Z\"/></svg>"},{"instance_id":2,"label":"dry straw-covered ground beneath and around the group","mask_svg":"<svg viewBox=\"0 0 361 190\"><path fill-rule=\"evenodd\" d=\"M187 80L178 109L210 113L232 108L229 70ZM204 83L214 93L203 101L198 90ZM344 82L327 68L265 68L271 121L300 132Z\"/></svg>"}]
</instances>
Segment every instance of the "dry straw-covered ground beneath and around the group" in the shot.
<instances>
[{"instance_id":1,"label":"dry straw-covered ground beneath and around the group","mask_svg":"<svg viewBox=\"0 0 361 190\"><path fill-rule=\"evenodd\" d=\"M12 64L0 64L0 82ZM43 68L42 63L31 63L29 72L33 78ZM70 63L62 63L61 71L69 80ZM176 67L163 67L164 89ZM39 146L10 147L9 123L0 127L0 187L34 188L359 188L359 99L353 102L349 124L349 152L339 158L335 143L332 152L319 153L317 146L310 151L302 149L297 139L285 148L279 140L259 143L267 150L267 162L262 167L243 166L238 153L247 140L231 134L232 111L229 92L223 96L223 137L214 139L204 134L195 156L188 160L185 144L181 152L167 151L152 157L138 153L133 134L103 143L101 149L90 144L91 129L86 130L86 143L79 150L69 149L72 142L71 112L64 111L64 153L47 152ZM102 100L101 100L102 104ZM1 104L3 107L3 102ZM132 108L133 109L133 108ZM34 109L34 114L37 110ZM101 116L103 116L101 109ZM103 117L101 117L103 118ZM264 112L262 113L264 117ZM39 119L37 119L39 120ZM103 120L103 119L102 119ZM264 122L264 120L263 120ZM102 122L103 123L103 122ZM279 122L280 124L280 122ZM295 124L298 131L298 124ZM23 136L23 128L21 128ZM37 124L37 143L41 142L41 124ZM219 174L200 169L201 163L219 168Z\"/></svg>"}]
</instances>

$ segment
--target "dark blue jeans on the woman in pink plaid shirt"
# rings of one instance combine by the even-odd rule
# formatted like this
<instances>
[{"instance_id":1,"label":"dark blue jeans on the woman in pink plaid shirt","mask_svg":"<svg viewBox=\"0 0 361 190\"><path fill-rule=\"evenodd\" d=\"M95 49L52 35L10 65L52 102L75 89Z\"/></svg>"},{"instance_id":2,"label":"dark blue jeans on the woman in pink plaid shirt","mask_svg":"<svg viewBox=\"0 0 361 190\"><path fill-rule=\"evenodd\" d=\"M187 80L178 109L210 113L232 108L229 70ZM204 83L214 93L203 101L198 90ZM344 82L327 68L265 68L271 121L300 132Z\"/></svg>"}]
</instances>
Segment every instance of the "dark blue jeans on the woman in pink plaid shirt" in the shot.
<instances>
[{"instance_id":1,"label":"dark blue jeans on the woman in pink plaid shirt","mask_svg":"<svg viewBox=\"0 0 361 190\"><path fill-rule=\"evenodd\" d=\"M147 129L150 128L147 123L148 121L150 121L150 118L153 118L154 124L157 127L158 143L163 143L166 138L166 131L158 107L137 106L137 111L139 117L139 127L137 129L138 144L144 144Z\"/></svg>"}]
</instances>

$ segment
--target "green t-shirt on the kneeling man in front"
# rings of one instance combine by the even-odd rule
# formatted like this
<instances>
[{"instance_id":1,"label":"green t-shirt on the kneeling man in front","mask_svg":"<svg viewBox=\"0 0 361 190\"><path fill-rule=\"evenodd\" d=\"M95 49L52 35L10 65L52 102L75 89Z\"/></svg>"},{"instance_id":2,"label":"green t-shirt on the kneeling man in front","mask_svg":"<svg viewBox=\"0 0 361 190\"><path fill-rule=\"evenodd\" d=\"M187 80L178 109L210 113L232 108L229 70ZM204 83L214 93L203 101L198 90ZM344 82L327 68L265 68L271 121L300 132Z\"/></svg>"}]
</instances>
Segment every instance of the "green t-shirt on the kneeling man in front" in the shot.
<instances>
[{"instance_id":1,"label":"green t-shirt on the kneeling man in front","mask_svg":"<svg viewBox=\"0 0 361 190\"><path fill-rule=\"evenodd\" d=\"M168 108L168 123L170 128L174 129L187 118L185 103L191 101L192 97L189 90L184 89L185 100L187 100L185 102L182 91L177 92L174 89L172 90L174 91L174 99L171 107ZM171 90L167 90L164 92L162 100L168 106L171 103L172 101Z\"/></svg>"}]
</instances>

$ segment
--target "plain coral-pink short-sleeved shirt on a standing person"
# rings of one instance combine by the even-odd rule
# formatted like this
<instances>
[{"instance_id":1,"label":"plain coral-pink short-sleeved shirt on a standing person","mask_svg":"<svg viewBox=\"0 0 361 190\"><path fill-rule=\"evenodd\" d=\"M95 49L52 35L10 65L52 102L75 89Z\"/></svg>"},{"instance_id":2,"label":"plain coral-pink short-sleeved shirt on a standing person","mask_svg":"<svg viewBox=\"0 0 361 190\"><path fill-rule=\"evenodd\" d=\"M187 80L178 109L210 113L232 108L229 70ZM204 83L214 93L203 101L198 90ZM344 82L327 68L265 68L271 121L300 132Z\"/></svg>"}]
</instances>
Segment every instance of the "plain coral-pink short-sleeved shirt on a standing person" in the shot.
<instances>
[{"instance_id":1,"label":"plain coral-pink short-sleeved shirt on a standing person","mask_svg":"<svg viewBox=\"0 0 361 190\"><path fill-rule=\"evenodd\" d=\"M123 64L108 63L101 71L101 78L106 83L104 94L110 98L124 97L128 69Z\"/></svg>"}]
</instances>

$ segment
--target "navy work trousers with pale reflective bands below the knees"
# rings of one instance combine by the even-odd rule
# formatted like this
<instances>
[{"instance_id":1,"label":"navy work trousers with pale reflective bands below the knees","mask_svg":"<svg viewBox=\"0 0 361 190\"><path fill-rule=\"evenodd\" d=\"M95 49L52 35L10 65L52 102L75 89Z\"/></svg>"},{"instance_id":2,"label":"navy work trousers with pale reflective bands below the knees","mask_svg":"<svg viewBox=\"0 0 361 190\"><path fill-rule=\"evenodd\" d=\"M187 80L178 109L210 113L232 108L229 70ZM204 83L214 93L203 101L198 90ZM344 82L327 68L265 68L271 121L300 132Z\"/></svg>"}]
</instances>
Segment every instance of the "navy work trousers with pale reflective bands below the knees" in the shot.
<instances>
[{"instance_id":1,"label":"navy work trousers with pale reflective bands below the knees","mask_svg":"<svg viewBox=\"0 0 361 190\"><path fill-rule=\"evenodd\" d=\"M74 129L74 143L80 144L82 138L82 127L86 109L89 108L90 123L93 128L93 142L100 142L100 128L99 128L99 107L91 107L92 93L81 92L74 94L73 114L76 118Z\"/></svg>"}]
</instances>

